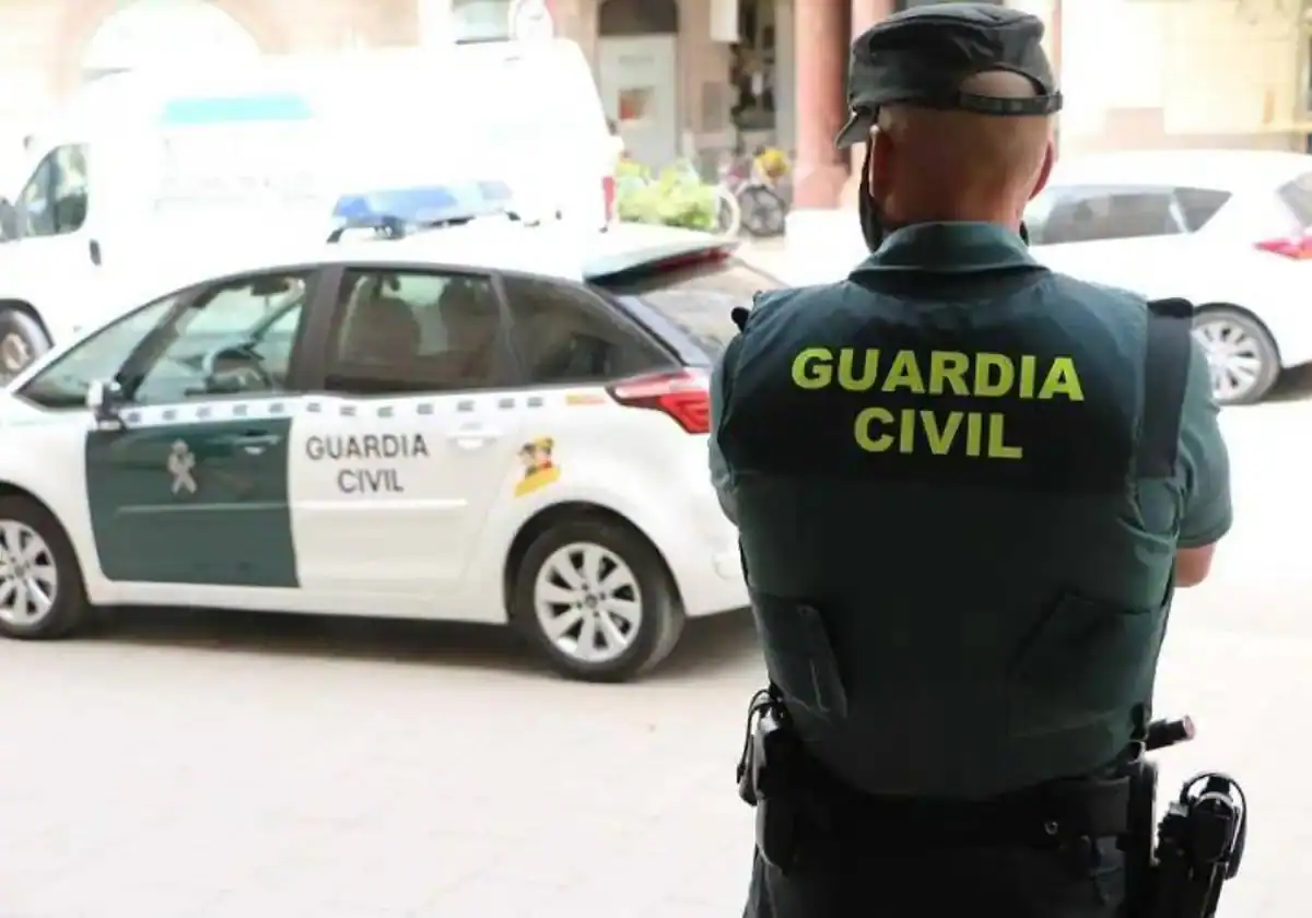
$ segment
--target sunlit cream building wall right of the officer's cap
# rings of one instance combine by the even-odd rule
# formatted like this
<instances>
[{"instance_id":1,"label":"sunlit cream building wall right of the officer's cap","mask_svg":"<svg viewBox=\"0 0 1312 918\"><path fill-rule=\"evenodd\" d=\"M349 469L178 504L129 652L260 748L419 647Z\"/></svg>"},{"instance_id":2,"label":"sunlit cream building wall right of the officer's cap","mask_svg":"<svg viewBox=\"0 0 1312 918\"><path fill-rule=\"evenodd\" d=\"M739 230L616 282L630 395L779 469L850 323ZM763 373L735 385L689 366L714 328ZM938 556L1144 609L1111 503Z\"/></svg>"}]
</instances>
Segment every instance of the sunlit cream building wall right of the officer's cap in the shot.
<instances>
[{"instance_id":1,"label":"sunlit cream building wall right of the officer's cap","mask_svg":"<svg viewBox=\"0 0 1312 918\"><path fill-rule=\"evenodd\" d=\"M1013 0L1059 33L1063 153L1303 150L1299 0ZM1054 29L1052 26L1056 26ZM1115 54L1109 55L1109 49Z\"/></svg>"}]
</instances>

